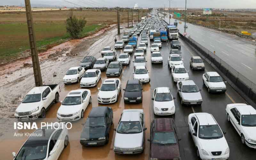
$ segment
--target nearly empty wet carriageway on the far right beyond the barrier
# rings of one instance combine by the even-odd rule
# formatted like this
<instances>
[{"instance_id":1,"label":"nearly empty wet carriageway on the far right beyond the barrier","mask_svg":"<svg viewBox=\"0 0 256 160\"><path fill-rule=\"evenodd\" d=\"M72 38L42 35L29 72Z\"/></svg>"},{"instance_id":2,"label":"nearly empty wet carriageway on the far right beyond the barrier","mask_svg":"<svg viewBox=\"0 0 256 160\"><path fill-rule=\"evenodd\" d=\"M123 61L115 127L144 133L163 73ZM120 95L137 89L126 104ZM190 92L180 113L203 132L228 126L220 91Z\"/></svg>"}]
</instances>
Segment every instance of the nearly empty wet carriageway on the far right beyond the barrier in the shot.
<instances>
[{"instance_id":1,"label":"nearly empty wet carriageway on the far right beyond the barrier","mask_svg":"<svg viewBox=\"0 0 256 160\"><path fill-rule=\"evenodd\" d=\"M171 24L174 20L171 19ZM165 17L165 21L169 22L169 18ZM181 21L181 24L178 23L178 29L182 34L184 33L184 24L184 21ZM252 40L191 23L186 24L188 25L187 36L211 52L215 51L218 57L256 83L256 46L252 44Z\"/></svg>"}]
</instances>

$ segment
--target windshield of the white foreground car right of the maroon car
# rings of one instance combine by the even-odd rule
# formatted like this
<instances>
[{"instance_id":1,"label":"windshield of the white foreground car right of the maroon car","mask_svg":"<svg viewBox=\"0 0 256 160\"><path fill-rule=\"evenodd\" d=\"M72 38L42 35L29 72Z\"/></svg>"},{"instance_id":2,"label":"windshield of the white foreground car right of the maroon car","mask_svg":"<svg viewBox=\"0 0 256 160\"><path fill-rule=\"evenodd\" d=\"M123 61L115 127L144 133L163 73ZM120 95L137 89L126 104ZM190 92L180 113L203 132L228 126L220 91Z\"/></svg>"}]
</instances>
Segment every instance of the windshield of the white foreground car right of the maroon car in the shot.
<instances>
[{"instance_id":1,"label":"windshield of the white foreground car right of the maroon car","mask_svg":"<svg viewBox=\"0 0 256 160\"><path fill-rule=\"evenodd\" d=\"M223 137L220 127L215 125L200 125L199 138L201 139L219 139Z\"/></svg>"}]
</instances>

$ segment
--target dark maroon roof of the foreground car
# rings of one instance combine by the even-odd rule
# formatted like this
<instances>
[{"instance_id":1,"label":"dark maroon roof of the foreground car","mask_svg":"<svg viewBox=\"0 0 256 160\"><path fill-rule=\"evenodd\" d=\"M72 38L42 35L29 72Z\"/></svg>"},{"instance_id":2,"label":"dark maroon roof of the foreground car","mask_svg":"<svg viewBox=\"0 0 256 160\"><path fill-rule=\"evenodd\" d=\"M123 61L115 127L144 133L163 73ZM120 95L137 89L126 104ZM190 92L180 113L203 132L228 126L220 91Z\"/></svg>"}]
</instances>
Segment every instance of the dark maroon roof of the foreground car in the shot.
<instances>
[{"instance_id":1,"label":"dark maroon roof of the foreground car","mask_svg":"<svg viewBox=\"0 0 256 160\"><path fill-rule=\"evenodd\" d=\"M155 120L156 132L171 132L174 131L172 118L156 118Z\"/></svg>"}]
</instances>

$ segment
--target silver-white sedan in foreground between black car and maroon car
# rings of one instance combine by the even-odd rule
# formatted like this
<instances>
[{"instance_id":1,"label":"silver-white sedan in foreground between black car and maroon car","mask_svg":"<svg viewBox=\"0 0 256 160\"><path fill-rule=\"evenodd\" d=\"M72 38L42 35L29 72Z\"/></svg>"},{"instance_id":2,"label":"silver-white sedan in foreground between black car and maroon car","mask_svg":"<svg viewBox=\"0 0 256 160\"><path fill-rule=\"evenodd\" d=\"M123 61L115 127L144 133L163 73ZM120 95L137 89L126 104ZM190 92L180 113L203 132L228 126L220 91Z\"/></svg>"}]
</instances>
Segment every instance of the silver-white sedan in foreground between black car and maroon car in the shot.
<instances>
[{"instance_id":1,"label":"silver-white sedan in foreground between black car and maroon car","mask_svg":"<svg viewBox=\"0 0 256 160\"><path fill-rule=\"evenodd\" d=\"M114 141L117 154L138 154L144 150L145 115L142 109L124 109Z\"/></svg>"}]
</instances>

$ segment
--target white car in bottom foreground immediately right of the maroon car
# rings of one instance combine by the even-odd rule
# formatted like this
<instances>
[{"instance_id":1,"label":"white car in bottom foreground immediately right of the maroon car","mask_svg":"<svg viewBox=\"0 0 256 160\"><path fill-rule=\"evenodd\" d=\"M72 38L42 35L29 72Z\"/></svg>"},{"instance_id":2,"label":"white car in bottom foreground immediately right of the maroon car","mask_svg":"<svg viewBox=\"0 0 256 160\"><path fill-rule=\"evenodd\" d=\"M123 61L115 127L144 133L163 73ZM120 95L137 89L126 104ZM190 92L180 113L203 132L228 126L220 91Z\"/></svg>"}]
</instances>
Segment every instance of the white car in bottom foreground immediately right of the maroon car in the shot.
<instances>
[{"instance_id":1,"label":"white car in bottom foreground immediately right of the maroon car","mask_svg":"<svg viewBox=\"0 0 256 160\"><path fill-rule=\"evenodd\" d=\"M229 147L219 124L209 113L188 115L189 132L196 146L196 155L200 159L229 158Z\"/></svg>"}]
</instances>

